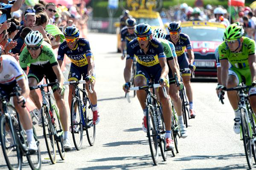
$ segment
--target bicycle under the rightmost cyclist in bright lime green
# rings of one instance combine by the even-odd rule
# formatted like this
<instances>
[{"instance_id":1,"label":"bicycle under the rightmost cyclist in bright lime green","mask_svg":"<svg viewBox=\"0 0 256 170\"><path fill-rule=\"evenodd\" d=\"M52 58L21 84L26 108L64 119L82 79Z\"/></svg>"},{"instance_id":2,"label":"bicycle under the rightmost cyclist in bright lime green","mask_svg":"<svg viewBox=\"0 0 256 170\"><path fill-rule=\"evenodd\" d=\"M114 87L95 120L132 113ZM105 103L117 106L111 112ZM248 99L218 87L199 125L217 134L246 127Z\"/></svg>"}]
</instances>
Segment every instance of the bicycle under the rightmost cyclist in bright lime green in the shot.
<instances>
[{"instance_id":1,"label":"bicycle under the rightmost cyclist in bright lime green","mask_svg":"<svg viewBox=\"0 0 256 170\"><path fill-rule=\"evenodd\" d=\"M224 104L224 91L238 91L239 95L239 111L241 113L240 138L244 143L245 156L249 169L252 168L252 156L256 163L256 116L252 111L249 103L249 96L246 94L247 89L253 86L236 86L233 88L223 88L219 93L219 101Z\"/></svg>"}]
</instances>

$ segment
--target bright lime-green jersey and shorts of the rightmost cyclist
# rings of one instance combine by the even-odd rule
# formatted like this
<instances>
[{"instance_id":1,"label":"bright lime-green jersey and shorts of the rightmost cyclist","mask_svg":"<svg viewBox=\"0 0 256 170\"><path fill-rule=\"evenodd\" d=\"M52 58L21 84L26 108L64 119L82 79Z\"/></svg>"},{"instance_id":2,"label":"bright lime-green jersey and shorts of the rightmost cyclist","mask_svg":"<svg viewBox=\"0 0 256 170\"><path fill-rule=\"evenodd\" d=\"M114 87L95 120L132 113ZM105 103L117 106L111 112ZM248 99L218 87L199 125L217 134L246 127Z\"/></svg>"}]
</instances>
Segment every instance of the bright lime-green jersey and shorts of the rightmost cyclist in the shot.
<instances>
[{"instance_id":1,"label":"bright lime-green jersey and shorts of the rightmost cyclist","mask_svg":"<svg viewBox=\"0 0 256 170\"><path fill-rule=\"evenodd\" d=\"M239 84L243 81L246 85L251 85L252 80L248 58L249 55L255 54L255 41L248 37L242 38L243 42L241 43L240 52L231 52L225 41L219 46L218 52L220 60L228 60L231 64L229 75L236 76ZM255 92L249 91L249 95L253 95L253 93Z\"/></svg>"}]
</instances>

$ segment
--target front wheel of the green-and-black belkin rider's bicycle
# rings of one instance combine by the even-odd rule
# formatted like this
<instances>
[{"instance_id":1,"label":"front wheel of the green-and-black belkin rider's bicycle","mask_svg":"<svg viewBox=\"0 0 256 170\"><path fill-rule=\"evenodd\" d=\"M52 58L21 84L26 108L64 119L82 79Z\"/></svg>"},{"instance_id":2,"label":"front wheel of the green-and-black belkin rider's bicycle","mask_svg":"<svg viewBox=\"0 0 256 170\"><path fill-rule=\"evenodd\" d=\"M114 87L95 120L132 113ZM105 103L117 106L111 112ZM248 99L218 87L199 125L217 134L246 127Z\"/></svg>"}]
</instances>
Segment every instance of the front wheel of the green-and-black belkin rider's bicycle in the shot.
<instances>
[{"instance_id":1,"label":"front wheel of the green-and-black belkin rider's bicycle","mask_svg":"<svg viewBox=\"0 0 256 170\"><path fill-rule=\"evenodd\" d=\"M47 147L47 152L52 164L56 163L56 146L55 139L52 132L52 120L49 118L49 110L47 107L43 106L42 110L42 124L45 144Z\"/></svg>"}]
</instances>

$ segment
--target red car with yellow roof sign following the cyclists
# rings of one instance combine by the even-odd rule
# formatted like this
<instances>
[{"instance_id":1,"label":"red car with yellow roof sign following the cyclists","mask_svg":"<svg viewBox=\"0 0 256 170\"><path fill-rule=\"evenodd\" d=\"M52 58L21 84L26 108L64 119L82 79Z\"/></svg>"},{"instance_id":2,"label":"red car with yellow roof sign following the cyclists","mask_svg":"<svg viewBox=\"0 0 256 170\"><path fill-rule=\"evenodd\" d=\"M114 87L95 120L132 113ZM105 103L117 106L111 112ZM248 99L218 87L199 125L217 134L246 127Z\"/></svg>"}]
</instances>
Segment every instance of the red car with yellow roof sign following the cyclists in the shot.
<instances>
[{"instance_id":1,"label":"red car with yellow roof sign following the cyclists","mask_svg":"<svg viewBox=\"0 0 256 170\"><path fill-rule=\"evenodd\" d=\"M181 26L181 32L189 35L194 51L195 76L216 77L217 67L214 52L223 42L222 37L226 27L221 23L207 21L187 21L181 23Z\"/></svg>"}]
</instances>

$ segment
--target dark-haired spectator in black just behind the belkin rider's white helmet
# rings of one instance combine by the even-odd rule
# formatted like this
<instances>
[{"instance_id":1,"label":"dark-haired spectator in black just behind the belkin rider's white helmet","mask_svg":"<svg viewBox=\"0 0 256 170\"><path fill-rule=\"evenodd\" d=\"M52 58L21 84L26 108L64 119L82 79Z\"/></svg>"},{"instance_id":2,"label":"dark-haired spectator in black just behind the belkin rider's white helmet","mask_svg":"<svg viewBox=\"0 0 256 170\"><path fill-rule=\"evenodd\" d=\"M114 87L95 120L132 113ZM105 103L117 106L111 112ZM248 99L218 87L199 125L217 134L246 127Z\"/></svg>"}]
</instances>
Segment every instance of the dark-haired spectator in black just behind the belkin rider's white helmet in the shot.
<instances>
[{"instance_id":1,"label":"dark-haired spectator in black just behind the belkin rider's white helmet","mask_svg":"<svg viewBox=\"0 0 256 170\"><path fill-rule=\"evenodd\" d=\"M15 40L17 42L17 46L15 46L15 48L12 49L12 53L16 54L18 53L18 55L20 55L20 53L22 52L22 50L24 49L24 47L26 46L26 44L24 43L24 39L26 37L26 35L31 32L32 29L29 27L25 27L22 32L20 33L20 37L18 37L17 40Z\"/></svg>"}]
</instances>

